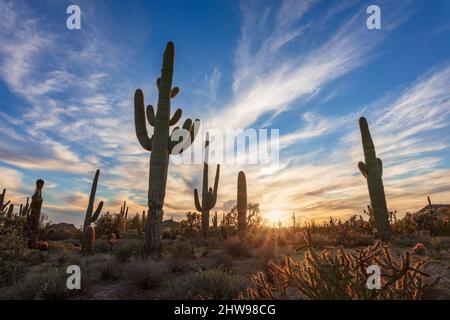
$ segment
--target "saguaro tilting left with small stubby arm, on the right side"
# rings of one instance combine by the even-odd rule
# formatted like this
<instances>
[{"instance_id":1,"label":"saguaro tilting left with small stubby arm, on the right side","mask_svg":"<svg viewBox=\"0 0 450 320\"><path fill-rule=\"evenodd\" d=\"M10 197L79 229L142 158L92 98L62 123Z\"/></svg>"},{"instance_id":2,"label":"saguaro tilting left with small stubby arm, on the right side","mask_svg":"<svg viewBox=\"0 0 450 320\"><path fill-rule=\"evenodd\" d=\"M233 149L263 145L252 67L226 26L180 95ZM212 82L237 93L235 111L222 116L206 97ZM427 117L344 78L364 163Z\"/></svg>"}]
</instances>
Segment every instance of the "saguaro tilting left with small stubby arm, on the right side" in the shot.
<instances>
[{"instance_id":1,"label":"saguaro tilting left with small stubby arm, on the right side","mask_svg":"<svg viewBox=\"0 0 450 320\"><path fill-rule=\"evenodd\" d=\"M361 130L361 140L364 149L364 162L358 162L359 171L367 180L370 202L372 204L375 228L378 237L383 240L389 240L390 226L389 214L384 194L383 163L377 158L375 146L369 131L369 125L364 117L359 119L359 128Z\"/></svg>"}]
</instances>

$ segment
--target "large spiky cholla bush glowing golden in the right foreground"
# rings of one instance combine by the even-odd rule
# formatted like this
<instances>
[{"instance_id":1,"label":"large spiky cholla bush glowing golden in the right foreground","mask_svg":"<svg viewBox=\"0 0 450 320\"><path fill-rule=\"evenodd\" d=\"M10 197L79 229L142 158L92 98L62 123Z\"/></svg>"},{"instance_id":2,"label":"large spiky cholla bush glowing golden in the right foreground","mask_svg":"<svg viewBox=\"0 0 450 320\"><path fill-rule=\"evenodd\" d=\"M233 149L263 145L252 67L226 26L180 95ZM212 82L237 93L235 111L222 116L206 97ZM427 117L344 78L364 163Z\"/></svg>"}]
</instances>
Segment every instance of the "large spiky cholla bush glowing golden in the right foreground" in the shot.
<instances>
[{"instance_id":1,"label":"large spiky cholla bush glowing golden in the right foreground","mask_svg":"<svg viewBox=\"0 0 450 320\"><path fill-rule=\"evenodd\" d=\"M390 250L380 247L381 242L353 253L329 250L321 253L310 245L303 259L283 257L271 261L265 273L253 277L253 287L247 290L251 299L283 299L288 290L296 290L299 297L325 300L347 299L421 299L428 277L421 268L425 260L412 263L410 254L404 253L395 261ZM383 270L381 290L366 287L369 265Z\"/></svg>"}]
</instances>

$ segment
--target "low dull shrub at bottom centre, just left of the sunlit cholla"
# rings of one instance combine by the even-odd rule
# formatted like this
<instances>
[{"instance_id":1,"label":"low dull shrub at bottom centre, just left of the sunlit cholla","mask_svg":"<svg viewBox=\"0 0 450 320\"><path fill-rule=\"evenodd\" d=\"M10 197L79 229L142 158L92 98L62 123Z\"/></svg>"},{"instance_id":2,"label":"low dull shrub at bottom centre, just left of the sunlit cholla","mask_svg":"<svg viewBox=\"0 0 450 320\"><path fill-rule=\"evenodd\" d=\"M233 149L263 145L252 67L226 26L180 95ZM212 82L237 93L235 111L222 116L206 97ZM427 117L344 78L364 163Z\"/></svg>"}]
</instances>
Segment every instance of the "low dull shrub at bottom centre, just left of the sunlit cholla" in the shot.
<instances>
[{"instance_id":1,"label":"low dull shrub at bottom centre, just left of the sunlit cholla","mask_svg":"<svg viewBox=\"0 0 450 320\"><path fill-rule=\"evenodd\" d=\"M241 276L213 268L169 282L167 295L172 299L235 299L245 288Z\"/></svg>"}]
</instances>

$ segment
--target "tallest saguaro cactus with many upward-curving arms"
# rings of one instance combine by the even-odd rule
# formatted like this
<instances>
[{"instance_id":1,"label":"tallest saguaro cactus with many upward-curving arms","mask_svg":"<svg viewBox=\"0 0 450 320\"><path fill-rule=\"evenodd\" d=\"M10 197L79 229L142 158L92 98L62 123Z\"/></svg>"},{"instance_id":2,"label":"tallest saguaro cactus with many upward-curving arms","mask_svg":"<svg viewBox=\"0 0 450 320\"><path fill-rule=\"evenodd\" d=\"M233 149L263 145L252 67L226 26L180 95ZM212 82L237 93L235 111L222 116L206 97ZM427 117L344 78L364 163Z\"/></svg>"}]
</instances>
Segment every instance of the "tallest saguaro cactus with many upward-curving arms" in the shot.
<instances>
[{"instance_id":1,"label":"tallest saguaro cactus with many upward-curving arms","mask_svg":"<svg viewBox=\"0 0 450 320\"><path fill-rule=\"evenodd\" d=\"M169 135L170 126L175 125L182 114L181 109L177 109L170 117L170 100L175 98L179 92L178 87L172 88L174 56L174 44L169 42L164 51L161 77L156 82L159 90L156 115L153 107L147 106L147 120L154 127L152 137L148 136L145 124L144 94L140 89L136 90L134 94L136 136L141 146L145 150L151 151L144 252L154 257L160 255L169 155L180 154L189 148L200 125L200 120L192 122L191 119L187 119L182 129L176 127Z\"/></svg>"}]
</instances>

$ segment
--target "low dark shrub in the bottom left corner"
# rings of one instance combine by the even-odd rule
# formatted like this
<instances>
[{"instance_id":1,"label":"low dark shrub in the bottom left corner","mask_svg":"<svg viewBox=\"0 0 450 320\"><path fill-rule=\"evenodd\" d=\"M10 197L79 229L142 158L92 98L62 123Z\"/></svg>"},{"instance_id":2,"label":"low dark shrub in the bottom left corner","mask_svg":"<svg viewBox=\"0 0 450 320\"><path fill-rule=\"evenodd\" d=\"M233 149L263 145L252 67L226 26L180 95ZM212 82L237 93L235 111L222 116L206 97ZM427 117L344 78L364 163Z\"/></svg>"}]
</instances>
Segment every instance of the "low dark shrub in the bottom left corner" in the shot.
<instances>
[{"instance_id":1,"label":"low dark shrub in the bottom left corner","mask_svg":"<svg viewBox=\"0 0 450 320\"><path fill-rule=\"evenodd\" d=\"M14 287L2 292L3 299L62 300L75 294L66 286L67 274L63 268L50 268L28 273Z\"/></svg>"}]
</instances>

